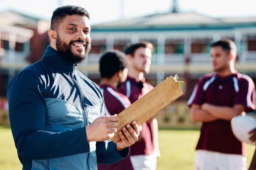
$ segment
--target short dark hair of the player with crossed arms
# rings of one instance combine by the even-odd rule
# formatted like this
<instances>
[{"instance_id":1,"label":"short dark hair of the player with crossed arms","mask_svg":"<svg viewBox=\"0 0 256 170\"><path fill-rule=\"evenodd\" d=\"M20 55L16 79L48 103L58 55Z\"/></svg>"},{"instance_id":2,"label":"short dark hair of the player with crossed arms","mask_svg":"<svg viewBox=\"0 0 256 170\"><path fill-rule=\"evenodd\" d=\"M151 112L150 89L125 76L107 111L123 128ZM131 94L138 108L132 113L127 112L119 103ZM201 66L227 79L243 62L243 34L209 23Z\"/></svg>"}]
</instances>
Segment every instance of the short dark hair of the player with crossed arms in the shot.
<instances>
[{"instance_id":1,"label":"short dark hair of the player with crossed arms","mask_svg":"<svg viewBox=\"0 0 256 170\"><path fill-rule=\"evenodd\" d=\"M211 44L211 47L221 46L223 50L231 53L234 58L236 57L236 44L230 39L221 39Z\"/></svg>"}]
</instances>

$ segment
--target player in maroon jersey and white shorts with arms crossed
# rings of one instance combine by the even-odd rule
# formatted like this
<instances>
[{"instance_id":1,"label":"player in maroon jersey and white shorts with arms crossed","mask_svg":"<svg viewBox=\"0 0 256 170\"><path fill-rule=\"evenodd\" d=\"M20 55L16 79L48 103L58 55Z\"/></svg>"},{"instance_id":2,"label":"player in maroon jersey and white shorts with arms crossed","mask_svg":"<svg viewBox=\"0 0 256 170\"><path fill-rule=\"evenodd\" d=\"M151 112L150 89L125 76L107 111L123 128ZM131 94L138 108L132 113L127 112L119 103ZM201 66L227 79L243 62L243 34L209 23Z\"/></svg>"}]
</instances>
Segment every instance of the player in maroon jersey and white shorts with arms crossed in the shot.
<instances>
[{"instance_id":1,"label":"player in maroon jersey and white shorts with arms crossed","mask_svg":"<svg viewBox=\"0 0 256 170\"><path fill-rule=\"evenodd\" d=\"M193 122L202 122L195 169L245 170L245 146L232 133L234 116L255 109L252 79L235 70L236 45L223 39L211 45L215 73L204 75L188 101Z\"/></svg>"}]
</instances>

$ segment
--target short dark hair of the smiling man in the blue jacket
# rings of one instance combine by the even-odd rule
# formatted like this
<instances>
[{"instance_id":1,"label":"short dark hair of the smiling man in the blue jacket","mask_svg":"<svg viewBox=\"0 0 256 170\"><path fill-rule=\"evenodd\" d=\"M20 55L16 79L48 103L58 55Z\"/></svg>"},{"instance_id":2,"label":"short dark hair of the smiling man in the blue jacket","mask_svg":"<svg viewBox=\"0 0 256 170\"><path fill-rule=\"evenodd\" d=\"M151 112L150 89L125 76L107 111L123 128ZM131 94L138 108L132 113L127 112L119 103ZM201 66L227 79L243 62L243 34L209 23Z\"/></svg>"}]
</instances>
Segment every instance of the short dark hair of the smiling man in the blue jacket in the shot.
<instances>
[{"instance_id":1,"label":"short dark hair of the smiling man in the blue jacket","mask_svg":"<svg viewBox=\"0 0 256 170\"><path fill-rule=\"evenodd\" d=\"M51 29L56 30L57 26L63 21L67 15L81 15L90 19L90 14L86 9L75 5L65 5L55 9L52 13Z\"/></svg>"}]
</instances>

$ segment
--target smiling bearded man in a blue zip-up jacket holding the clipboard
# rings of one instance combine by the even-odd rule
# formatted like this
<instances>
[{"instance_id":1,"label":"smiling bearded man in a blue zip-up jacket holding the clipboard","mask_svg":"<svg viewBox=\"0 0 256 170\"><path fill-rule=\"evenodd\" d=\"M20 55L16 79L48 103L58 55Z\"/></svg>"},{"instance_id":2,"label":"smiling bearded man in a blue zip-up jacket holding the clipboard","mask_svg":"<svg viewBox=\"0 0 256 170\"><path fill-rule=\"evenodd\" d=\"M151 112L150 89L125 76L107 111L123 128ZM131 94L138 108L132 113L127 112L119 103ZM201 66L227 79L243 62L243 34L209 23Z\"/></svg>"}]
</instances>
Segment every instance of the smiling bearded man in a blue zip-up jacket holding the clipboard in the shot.
<instances>
[{"instance_id":1,"label":"smiling bearded man in a blue zip-up jacket holding the clipboard","mask_svg":"<svg viewBox=\"0 0 256 170\"><path fill-rule=\"evenodd\" d=\"M133 123L105 149L118 117L104 116L99 86L76 69L90 51L89 19L82 7L57 8L48 31L51 46L9 84L9 118L23 169L97 169L97 163L125 158L138 140Z\"/></svg>"}]
</instances>

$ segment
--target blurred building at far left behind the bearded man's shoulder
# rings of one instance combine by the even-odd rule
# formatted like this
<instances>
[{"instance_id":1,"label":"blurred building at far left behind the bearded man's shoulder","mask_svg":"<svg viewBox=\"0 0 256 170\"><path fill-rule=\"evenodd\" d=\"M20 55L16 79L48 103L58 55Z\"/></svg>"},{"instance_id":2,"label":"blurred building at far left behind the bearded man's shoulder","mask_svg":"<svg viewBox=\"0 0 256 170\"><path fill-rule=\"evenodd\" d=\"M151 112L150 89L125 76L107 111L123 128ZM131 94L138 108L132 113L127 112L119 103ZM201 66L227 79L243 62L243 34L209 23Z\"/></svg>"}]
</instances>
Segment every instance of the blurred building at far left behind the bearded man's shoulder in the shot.
<instances>
[{"instance_id":1,"label":"blurred building at far left behind the bearded man's shoulder","mask_svg":"<svg viewBox=\"0 0 256 170\"><path fill-rule=\"evenodd\" d=\"M10 80L42 57L50 21L7 11L0 13L0 23L0 96L6 96Z\"/></svg>"}]
</instances>

